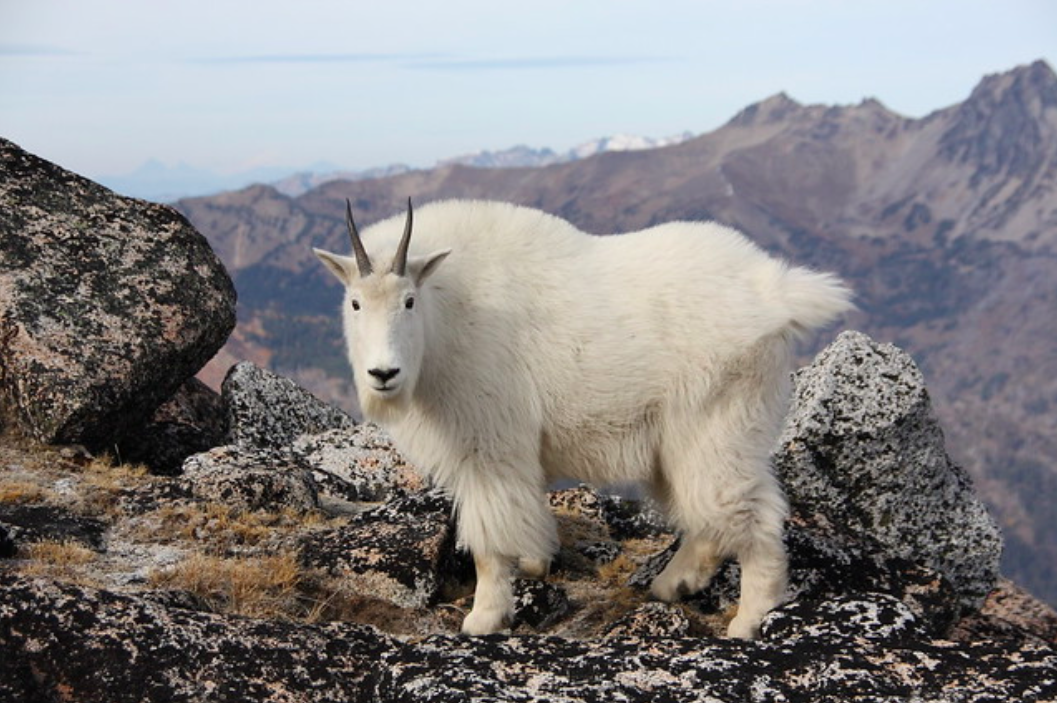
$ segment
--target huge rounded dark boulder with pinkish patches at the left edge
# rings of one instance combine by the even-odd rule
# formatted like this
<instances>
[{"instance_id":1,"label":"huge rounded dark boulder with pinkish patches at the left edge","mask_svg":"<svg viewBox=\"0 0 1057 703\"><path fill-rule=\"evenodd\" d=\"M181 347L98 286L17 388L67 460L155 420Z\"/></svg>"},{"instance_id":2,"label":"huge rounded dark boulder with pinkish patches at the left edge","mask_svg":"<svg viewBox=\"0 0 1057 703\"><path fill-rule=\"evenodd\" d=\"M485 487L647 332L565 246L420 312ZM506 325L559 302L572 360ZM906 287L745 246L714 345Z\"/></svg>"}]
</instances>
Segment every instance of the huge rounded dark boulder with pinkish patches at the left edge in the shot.
<instances>
[{"instance_id":1,"label":"huge rounded dark boulder with pinkish patches at the left edge","mask_svg":"<svg viewBox=\"0 0 1057 703\"><path fill-rule=\"evenodd\" d=\"M231 281L180 214L0 140L0 422L111 447L234 327Z\"/></svg>"}]
</instances>

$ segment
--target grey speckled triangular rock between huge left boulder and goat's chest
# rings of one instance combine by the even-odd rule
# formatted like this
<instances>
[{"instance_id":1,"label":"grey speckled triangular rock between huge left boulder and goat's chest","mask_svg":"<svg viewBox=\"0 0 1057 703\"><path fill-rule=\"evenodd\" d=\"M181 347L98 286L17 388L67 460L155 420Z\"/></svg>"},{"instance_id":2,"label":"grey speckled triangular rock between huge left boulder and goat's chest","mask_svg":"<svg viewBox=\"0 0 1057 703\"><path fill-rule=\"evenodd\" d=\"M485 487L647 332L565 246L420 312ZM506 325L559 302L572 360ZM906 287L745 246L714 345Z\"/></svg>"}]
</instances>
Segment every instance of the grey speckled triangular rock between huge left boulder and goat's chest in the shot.
<instances>
[{"instance_id":1,"label":"grey speckled triangular rock between huge left boulder and goat's chest","mask_svg":"<svg viewBox=\"0 0 1057 703\"><path fill-rule=\"evenodd\" d=\"M285 448L301 434L351 428L355 421L293 381L249 362L231 367L221 394L231 444Z\"/></svg>"}]
</instances>

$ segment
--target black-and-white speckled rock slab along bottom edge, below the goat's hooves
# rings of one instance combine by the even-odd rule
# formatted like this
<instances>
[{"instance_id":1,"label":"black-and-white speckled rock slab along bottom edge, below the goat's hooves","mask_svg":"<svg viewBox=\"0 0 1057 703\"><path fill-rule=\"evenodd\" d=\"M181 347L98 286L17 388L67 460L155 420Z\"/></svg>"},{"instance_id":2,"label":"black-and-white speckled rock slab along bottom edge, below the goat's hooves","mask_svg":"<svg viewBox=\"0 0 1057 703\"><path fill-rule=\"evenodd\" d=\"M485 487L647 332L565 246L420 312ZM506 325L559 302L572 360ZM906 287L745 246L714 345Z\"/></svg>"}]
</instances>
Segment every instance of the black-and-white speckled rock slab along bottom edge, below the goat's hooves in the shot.
<instances>
[{"instance_id":1,"label":"black-and-white speckled rock slab along bottom edge, below the goat's hooves","mask_svg":"<svg viewBox=\"0 0 1057 703\"><path fill-rule=\"evenodd\" d=\"M892 644L818 631L780 643L435 635L384 656L378 700L961 703L1057 696L1050 648Z\"/></svg>"}]
</instances>

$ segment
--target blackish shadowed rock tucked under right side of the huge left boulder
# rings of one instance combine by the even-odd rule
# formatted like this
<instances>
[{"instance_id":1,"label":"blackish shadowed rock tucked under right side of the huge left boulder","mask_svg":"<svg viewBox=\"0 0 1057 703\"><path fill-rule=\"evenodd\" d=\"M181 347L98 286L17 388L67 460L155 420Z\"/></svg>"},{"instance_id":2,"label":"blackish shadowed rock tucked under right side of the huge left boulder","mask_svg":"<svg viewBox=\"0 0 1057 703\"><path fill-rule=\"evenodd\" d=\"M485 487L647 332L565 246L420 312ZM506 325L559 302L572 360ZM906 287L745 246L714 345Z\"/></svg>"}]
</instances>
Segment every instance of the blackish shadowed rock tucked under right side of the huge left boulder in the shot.
<instances>
[{"instance_id":1,"label":"blackish shadowed rock tucked under right side of the huge left boulder","mask_svg":"<svg viewBox=\"0 0 1057 703\"><path fill-rule=\"evenodd\" d=\"M222 445L226 437L227 413L220 394L190 378L147 425L122 440L118 454L153 474L177 476L188 457Z\"/></svg>"}]
</instances>

